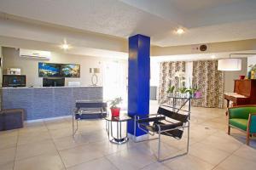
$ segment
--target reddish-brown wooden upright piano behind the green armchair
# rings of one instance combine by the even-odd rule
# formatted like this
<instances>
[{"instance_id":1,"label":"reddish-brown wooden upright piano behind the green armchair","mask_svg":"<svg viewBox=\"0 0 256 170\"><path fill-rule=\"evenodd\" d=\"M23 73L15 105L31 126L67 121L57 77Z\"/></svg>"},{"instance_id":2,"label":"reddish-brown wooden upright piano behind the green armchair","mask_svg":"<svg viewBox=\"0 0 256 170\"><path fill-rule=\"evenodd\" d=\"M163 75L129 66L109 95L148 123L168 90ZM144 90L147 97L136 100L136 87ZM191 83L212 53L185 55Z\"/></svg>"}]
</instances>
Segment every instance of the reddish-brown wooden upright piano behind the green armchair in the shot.
<instances>
[{"instance_id":1,"label":"reddish-brown wooden upright piano behind the green armchair","mask_svg":"<svg viewBox=\"0 0 256 170\"><path fill-rule=\"evenodd\" d=\"M255 105L256 104L256 79L235 80L234 93L224 94L227 100L227 107L230 101L236 105Z\"/></svg>"}]
</instances>

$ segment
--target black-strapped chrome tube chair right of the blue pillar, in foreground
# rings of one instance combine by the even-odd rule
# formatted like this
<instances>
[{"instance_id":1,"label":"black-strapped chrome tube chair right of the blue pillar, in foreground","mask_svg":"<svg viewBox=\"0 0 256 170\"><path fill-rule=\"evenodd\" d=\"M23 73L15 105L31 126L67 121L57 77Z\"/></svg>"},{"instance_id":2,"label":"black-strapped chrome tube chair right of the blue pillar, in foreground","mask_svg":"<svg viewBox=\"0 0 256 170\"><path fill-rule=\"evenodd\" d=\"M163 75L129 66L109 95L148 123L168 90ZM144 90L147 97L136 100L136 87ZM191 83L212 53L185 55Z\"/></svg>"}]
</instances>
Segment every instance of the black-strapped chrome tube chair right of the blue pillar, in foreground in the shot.
<instances>
[{"instance_id":1,"label":"black-strapped chrome tube chair right of the blue pillar, in foreground","mask_svg":"<svg viewBox=\"0 0 256 170\"><path fill-rule=\"evenodd\" d=\"M190 113L189 113L190 114ZM185 127L188 127L188 140L187 140L187 150L185 153L178 155L182 156L189 152L189 114L183 115L174 111L169 111L165 108L159 107L157 114L149 115L148 117L140 118L139 116L134 116L134 134L136 136L137 127L143 130L145 133L154 135L158 133L158 161L166 161L172 159L173 157L160 159L160 135L166 135L173 137L175 139L182 139L183 131ZM136 126L137 125L137 126ZM145 140L143 140L145 141ZM175 156L176 157L176 156Z\"/></svg>"}]
</instances>

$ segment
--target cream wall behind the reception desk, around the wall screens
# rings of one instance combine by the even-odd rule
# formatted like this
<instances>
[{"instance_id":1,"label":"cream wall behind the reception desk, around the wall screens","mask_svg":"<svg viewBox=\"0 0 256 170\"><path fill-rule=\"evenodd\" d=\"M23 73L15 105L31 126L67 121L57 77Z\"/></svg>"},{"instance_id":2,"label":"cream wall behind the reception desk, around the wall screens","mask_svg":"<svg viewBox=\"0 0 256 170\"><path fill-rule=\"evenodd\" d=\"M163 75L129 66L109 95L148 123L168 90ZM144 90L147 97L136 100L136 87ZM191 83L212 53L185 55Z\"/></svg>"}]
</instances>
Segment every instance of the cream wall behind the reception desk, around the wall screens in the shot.
<instances>
[{"instance_id":1,"label":"cream wall behind the reception desk, around the wall screens","mask_svg":"<svg viewBox=\"0 0 256 170\"><path fill-rule=\"evenodd\" d=\"M3 48L3 73L7 68L20 68L21 74L26 75L26 86L41 87L43 85L43 78L38 77L38 62L36 59L20 58L19 51L15 48ZM109 61L119 60L125 69L127 68L127 60L122 59L108 59L90 56L81 56L73 54L57 54L52 53L51 59L43 62L62 63L62 64L78 64L80 65L80 78L66 78L66 85L68 82L81 82L82 86L91 85L90 82L90 68L100 68L98 74L99 83L103 83L103 65Z\"/></svg>"}]
</instances>

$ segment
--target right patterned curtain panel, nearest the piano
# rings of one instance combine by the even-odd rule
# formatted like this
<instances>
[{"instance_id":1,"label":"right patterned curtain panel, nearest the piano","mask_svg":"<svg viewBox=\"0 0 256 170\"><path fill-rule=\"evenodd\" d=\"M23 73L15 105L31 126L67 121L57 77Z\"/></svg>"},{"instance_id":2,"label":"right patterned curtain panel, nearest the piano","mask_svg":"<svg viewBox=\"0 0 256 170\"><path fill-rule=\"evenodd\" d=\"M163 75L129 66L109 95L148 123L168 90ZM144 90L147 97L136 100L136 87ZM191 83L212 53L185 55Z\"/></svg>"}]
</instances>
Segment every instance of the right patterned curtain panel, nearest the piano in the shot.
<instances>
[{"instance_id":1,"label":"right patterned curtain panel, nearest the piano","mask_svg":"<svg viewBox=\"0 0 256 170\"><path fill-rule=\"evenodd\" d=\"M224 72L218 71L217 60L193 62L193 85L199 88L202 98L192 99L192 106L223 108Z\"/></svg>"}]
</instances>

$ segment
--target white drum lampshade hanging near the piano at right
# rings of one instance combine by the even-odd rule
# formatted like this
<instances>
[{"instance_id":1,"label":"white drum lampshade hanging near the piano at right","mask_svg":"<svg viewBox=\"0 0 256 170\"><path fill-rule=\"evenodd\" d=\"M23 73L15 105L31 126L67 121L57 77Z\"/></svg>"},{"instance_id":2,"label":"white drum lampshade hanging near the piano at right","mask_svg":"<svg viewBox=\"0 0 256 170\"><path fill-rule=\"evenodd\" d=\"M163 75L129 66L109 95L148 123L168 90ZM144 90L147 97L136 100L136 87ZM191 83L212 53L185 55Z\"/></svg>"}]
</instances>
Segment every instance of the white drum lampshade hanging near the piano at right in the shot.
<instances>
[{"instance_id":1,"label":"white drum lampshade hanging near the piano at right","mask_svg":"<svg viewBox=\"0 0 256 170\"><path fill-rule=\"evenodd\" d=\"M218 59L218 71L241 71L241 59Z\"/></svg>"}]
</instances>

